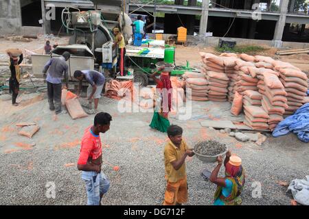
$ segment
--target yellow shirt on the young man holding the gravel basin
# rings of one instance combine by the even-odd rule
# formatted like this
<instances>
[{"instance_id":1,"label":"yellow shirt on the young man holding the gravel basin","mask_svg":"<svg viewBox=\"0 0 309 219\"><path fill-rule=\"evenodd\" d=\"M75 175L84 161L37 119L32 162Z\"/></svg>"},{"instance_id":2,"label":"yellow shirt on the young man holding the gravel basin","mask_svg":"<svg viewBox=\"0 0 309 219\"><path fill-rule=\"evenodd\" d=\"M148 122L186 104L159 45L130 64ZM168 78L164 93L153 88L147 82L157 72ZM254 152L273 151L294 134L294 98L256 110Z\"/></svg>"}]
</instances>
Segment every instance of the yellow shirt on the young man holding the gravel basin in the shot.
<instances>
[{"instance_id":1,"label":"yellow shirt on the young man holding the gravel basin","mask_svg":"<svg viewBox=\"0 0 309 219\"><path fill-rule=\"evenodd\" d=\"M165 179L170 181L171 183L175 183L181 179L184 179L187 175L185 171L185 163L179 168L179 170L175 170L172 166L171 162L181 159L187 150L187 144L182 141L181 146L176 147L172 141L168 142L164 148L164 164L165 164Z\"/></svg>"}]
</instances>

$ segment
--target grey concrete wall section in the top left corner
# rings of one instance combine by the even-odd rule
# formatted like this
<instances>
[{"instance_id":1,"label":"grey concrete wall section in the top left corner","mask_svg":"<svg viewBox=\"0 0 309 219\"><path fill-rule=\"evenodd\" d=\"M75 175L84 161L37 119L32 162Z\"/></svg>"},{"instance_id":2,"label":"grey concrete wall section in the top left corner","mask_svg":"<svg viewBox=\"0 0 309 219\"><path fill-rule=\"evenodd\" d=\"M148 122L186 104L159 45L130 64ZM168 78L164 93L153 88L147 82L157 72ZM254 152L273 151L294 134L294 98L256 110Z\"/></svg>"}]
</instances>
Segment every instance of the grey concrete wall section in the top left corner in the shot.
<instances>
[{"instance_id":1,"label":"grey concrete wall section in the top left corner","mask_svg":"<svg viewBox=\"0 0 309 219\"><path fill-rule=\"evenodd\" d=\"M19 0L0 1L0 36L21 34Z\"/></svg>"}]
</instances>

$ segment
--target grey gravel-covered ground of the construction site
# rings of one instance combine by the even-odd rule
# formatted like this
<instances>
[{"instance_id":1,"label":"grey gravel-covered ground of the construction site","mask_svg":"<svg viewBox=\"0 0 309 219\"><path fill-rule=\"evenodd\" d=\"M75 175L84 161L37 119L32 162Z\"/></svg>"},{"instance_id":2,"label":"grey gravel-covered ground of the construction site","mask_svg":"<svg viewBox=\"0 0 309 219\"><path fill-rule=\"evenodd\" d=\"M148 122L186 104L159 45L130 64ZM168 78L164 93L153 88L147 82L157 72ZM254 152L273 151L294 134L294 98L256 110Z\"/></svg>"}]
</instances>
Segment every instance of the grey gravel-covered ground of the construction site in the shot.
<instances>
[{"instance_id":1,"label":"grey gravel-covered ground of the construction site","mask_svg":"<svg viewBox=\"0 0 309 219\"><path fill-rule=\"evenodd\" d=\"M66 39L57 40L66 42ZM1 58L5 59L5 49L20 47L33 51L44 41L42 38L32 42L0 39ZM201 62L198 51L216 53L210 47L177 46L176 64L189 60L192 66L198 67ZM269 49L263 55L273 57L274 51ZM309 55L280 58L308 73L309 65L304 63L308 63ZM48 109L45 93L22 92L18 101L21 105L13 107L9 94L0 95L0 204L86 205L87 194L76 162L84 129L92 125L94 116L77 120L72 120L69 114L56 116ZM104 96L99 104L100 111L113 116L111 129L101 135L102 171L111 181L102 205L161 205L165 191L163 148L168 136L150 129L152 112L120 113L118 104ZM193 101L190 119L179 120L177 114L171 114L170 120L183 127L183 137L190 146L198 140L219 139L242 157L247 176L243 205L290 205L292 195L286 193L287 187L282 182L290 183L308 175L308 144L290 134L279 138L268 135L266 142L258 146L253 142L238 142L227 133L201 126L203 118L220 120L227 114L229 103ZM21 122L34 122L41 128L32 139L19 136L16 123ZM201 172L205 168L213 170L216 164L203 164L196 157L188 157L186 164L187 205L212 205L216 185L205 181ZM119 170L116 171L115 166L119 166ZM221 168L220 176L224 176L223 170ZM56 186L54 198L49 196L52 185Z\"/></svg>"}]
</instances>

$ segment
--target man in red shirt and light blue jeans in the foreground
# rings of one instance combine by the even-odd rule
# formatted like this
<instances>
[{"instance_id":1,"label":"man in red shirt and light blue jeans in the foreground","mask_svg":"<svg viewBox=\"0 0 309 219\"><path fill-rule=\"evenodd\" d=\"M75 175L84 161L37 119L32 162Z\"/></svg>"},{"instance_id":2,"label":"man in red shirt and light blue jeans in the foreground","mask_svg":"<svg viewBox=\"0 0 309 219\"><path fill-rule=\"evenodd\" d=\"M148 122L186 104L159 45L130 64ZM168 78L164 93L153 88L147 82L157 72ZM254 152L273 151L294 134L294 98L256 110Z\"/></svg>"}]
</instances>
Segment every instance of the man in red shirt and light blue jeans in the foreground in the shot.
<instances>
[{"instance_id":1,"label":"man in red shirt and light blue jeans in the foreground","mask_svg":"<svg viewBox=\"0 0 309 219\"><path fill-rule=\"evenodd\" d=\"M106 112L95 115L94 124L84 131L78 159L78 170L82 170L82 179L86 184L87 205L101 205L103 194L108 191L109 181L101 172L102 142L100 133L108 131L112 117Z\"/></svg>"}]
</instances>

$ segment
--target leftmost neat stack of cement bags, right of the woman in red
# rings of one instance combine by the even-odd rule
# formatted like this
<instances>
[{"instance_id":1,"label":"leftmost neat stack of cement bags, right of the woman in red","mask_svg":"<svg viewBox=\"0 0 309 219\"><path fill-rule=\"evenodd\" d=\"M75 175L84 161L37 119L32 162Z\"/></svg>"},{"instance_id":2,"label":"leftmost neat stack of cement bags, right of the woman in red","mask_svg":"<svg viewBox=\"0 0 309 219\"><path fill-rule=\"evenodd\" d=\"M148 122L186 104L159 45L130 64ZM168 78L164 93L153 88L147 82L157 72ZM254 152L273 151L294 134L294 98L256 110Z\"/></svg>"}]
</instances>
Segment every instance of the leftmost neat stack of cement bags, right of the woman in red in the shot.
<instances>
[{"instance_id":1,"label":"leftmost neat stack of cement bags, right of the woman in red","mask_svg":"<svg viewBox=\"0 0 309 219\"><path fill-rule=\"evenodd\" d=\"M201 73L185 73L186 96L192 101L208 101L208 81Z\"/></svg>"}]
</instances>

